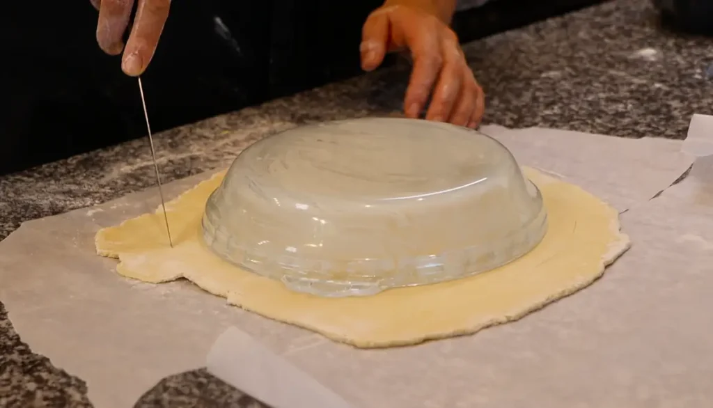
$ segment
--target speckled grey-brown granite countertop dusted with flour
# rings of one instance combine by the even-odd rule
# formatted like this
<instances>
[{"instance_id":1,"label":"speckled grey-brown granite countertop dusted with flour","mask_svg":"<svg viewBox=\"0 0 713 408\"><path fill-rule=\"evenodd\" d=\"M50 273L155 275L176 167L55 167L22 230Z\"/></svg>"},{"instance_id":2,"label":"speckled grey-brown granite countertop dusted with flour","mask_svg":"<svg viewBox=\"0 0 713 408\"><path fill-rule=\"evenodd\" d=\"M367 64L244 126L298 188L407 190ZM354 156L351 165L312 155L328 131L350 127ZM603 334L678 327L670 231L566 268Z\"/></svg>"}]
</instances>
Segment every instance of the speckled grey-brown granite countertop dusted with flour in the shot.
<instances>
[{"instance_id":1,"label":"speckled grey-brown granite countertop dusted with flour","mask_svg":"<svg viewBox=\"0 0 713 408\"><path fill-rule=\"evenodd\" d=\"M713 39L660 29L648 0L612 1L465 49L486 89L485 123L684 138L692 114L713 106ZM407 75L399 67L377 71L157 135L164 177L225 166L245 138L399 110ZM0 239L24 220L153 186L153 176L146 141L138 140L0 177ZM0 406L91 406L86 391L21 342L0 304ZM240 407L241 397L199 369L164 379L137 406Z\"/></svg>"}]
</instances>

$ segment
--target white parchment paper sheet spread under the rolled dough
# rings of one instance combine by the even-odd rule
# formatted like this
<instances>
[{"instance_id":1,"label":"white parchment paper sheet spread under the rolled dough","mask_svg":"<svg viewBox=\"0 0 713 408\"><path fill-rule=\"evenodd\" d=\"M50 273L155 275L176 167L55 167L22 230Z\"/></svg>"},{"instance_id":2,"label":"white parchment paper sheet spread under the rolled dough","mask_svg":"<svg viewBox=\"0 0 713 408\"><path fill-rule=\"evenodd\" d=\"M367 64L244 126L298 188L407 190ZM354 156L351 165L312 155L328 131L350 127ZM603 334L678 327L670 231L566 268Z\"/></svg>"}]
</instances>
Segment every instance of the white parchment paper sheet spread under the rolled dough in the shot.
<instances>
[{"instance_id":1,"label":"white parchment paper sheet spread under the rolled dough","mask_svg":"<svg viewBox=\"0 0 713 408\"><path fill-rule=\"evenodd\" d=\"M188 282L127 280L113 272L116 261L94 254L93 235L155 210L155 190L24 223L0 243L0 299L23 340L85 379L98 407L128 407L159 379L201 367L219 335L238 327L355 408L709 408L713 188L702 177L706 162L651 200L693 163L683 142L546 129L486 133L521 164L628 210L622 223L634 244L602 280L518 322L417 347L355 350L227 306ZM207 176L165 191L173 197Z\"/></svg>"}]
</instances>

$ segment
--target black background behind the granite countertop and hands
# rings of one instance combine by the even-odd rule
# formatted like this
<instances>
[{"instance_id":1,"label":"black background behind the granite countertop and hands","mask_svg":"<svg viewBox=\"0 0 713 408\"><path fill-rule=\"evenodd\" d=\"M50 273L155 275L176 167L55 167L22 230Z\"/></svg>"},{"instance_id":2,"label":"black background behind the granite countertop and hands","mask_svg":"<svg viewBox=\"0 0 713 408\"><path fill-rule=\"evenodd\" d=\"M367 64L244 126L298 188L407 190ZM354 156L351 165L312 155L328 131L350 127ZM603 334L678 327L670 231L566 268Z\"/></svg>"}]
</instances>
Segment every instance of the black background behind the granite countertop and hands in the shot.
<instances>
[{"instance_id":1,"label":"black background behind the granite countertop and hands","mask_svg":"<svg viewBox=\"0 0 713 408\"><path fill-rule=\"evenodd\" d=\"M456 14L462 41L601 0L491 0ZM143 75L152 130L360 72L361 24L380 0L183 0ZM16 1L0 16L0 174L145 136L135 78L96 45L88 0Z\"/></svg>"}]
</instances>

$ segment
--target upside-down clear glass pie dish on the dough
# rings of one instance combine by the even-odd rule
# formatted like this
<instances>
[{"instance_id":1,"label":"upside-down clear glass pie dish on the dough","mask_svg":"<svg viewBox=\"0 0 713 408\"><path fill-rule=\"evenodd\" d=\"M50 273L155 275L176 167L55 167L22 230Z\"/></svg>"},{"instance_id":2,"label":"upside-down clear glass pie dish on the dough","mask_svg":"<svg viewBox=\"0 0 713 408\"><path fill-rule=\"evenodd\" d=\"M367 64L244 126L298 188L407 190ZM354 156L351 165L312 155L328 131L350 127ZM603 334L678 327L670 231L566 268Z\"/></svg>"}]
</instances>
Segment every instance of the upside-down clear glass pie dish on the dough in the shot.
<instances>
[{"instance_id":1,"label":"upside-down clear glass pie dish on the dough","mask_svg":"<svg viewBox=\"0 0 713 408\"><path fill-rule=\"evenodd\" d=\"M302 126L232 163L205 244L289 289L339 297L504 265L547 229L538 189L477 131L403 118Z\"/></svg>"}]
</instances>

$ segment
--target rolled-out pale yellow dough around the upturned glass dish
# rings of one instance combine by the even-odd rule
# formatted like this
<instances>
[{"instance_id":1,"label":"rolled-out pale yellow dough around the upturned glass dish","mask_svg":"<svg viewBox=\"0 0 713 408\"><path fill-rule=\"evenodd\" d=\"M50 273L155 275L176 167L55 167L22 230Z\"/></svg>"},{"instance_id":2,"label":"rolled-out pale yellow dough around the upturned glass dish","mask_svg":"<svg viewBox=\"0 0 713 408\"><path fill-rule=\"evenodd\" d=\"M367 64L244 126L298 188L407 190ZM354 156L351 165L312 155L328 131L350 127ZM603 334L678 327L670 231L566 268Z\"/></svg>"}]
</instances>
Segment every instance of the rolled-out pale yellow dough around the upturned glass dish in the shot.
<instances>
[{"instance_id":1,"label":"rolled-out pale yellow dough around the upturned glass dish","mask_svg":"<svg viewBox=\"0 0 713 408\"><path fill-rule=\"evenodd\" d=\"M590 285L630 246L617 211L576 185L525 168L540 188L549 229L532 252L496 270L453 282L386 290L370 297L324 298L291 292L281 282L222 261L200 238L208 195L225 172L168 205L175 248L163 214L146 214L96 235L99 255L144 282L191 280L232 305L322 333L356 347L394 347L468 335L517 320Z\"/></svg>"}]
</instances>

